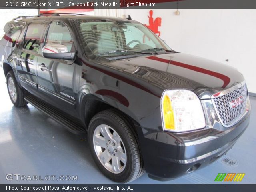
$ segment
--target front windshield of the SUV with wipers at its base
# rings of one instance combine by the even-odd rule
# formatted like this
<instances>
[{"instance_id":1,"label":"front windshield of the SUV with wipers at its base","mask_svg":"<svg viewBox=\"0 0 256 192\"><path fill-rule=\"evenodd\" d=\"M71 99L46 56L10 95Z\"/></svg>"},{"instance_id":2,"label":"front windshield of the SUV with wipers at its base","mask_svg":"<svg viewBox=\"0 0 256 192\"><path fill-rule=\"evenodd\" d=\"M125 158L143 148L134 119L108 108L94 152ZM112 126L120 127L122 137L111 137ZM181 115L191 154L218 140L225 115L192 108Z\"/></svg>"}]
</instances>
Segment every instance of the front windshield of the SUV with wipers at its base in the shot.
<instances>
[{"instance_id":1,"label":"front windshield of the SUV with wipers at its base","mask_svg":"<svg viewBox=\"0 0 256 192\"><path fill-rule=\"evenodd\" d=\"M150 54L171 50L146 26L123 20L76 20L86 55L113 57L117 54Z\"/></svg>"}]
</instances>

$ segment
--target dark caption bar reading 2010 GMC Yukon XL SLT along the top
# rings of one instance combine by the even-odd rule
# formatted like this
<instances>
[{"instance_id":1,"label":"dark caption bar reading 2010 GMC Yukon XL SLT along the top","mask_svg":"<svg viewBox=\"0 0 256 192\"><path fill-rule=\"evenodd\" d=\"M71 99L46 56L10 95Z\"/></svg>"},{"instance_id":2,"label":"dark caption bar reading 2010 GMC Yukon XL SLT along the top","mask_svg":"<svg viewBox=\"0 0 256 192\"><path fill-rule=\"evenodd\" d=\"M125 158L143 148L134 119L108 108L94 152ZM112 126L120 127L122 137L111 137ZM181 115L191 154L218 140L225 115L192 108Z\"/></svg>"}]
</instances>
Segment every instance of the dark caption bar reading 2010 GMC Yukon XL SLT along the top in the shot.
<instances>
[{"instance_id":1,"label":"dark caption bar reading 2010 GMC Yukon XL SLT along the top","mask_svg":"<svg viewBox=\"0 0 256 192\"><path fill-rule=\"evenodd\" d=\"M256 0L2 0L0 8L253 9L256 8Z\"/></svg>"}]
</instances>

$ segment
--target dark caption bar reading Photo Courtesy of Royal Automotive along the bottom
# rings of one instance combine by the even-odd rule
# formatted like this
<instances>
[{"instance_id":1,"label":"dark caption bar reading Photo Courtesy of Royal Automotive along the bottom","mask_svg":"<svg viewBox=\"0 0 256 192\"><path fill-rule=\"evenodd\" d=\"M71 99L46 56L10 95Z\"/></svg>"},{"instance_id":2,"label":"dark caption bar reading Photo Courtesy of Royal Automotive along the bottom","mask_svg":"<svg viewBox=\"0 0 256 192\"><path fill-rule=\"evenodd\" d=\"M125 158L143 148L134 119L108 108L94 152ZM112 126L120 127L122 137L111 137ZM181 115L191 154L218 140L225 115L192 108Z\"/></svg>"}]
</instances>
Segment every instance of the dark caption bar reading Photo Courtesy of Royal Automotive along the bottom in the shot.
<instances>
[{"instance_id":1,"label":"dark caption bar reading Photo Courtesy of Royal Automotive along the bottom","mask_svg":"<svg viewBox=\"0 0 256 192\"><path fill-rule=\"evenodd\" d=\"M0 184L1 192L254 192L256 184Z\"/></svg>"}]
</instances>

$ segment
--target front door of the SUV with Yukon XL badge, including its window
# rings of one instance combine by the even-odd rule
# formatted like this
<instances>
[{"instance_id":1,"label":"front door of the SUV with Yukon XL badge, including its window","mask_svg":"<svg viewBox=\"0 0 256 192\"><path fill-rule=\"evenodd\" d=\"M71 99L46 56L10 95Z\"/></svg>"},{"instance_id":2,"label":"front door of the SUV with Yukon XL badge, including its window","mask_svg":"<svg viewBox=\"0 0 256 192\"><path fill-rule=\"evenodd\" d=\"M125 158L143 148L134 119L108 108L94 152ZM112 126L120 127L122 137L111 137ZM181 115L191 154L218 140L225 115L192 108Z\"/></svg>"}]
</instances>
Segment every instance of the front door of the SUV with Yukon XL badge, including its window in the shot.
<instances>
[{"instance_id":1,"label":"front door of the SUV with Yukon XL badge, including its window","mask_svg":"<svg viewBox=\"0 0 256 192\"><path fill-rule=\"evenodd\" d=\"M68 52L75 51L70 30L60 21L52 21L48 26L44 46L50 44L63 44ZM78 84L75 79L78 71L80 66L74 61L38 56L38 90L44 94L46 102L71 116L75 116L77 94L74 87Z\"/></svg>"}]
</instances>

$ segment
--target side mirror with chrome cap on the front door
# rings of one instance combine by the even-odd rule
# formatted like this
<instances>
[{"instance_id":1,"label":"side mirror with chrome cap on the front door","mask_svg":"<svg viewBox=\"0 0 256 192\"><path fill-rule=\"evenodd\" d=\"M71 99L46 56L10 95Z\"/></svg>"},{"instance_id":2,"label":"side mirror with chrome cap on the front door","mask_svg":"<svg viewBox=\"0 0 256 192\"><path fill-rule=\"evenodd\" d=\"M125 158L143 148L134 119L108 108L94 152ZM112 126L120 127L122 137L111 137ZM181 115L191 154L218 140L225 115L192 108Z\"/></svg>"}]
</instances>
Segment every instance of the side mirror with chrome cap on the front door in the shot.
<instances>
[{"instance_id":1,"label":"side mirror with chrome cap on the front door","mask_svg":"<svg viewBox=\"0 0 256 192\"><path fill-rule=\"evenodd\" d=\"M68 52L68 47L62 44L48 44L43 47L42 55L49 59L74 60L76 53Z\"/></svg>"}]
</instances>

